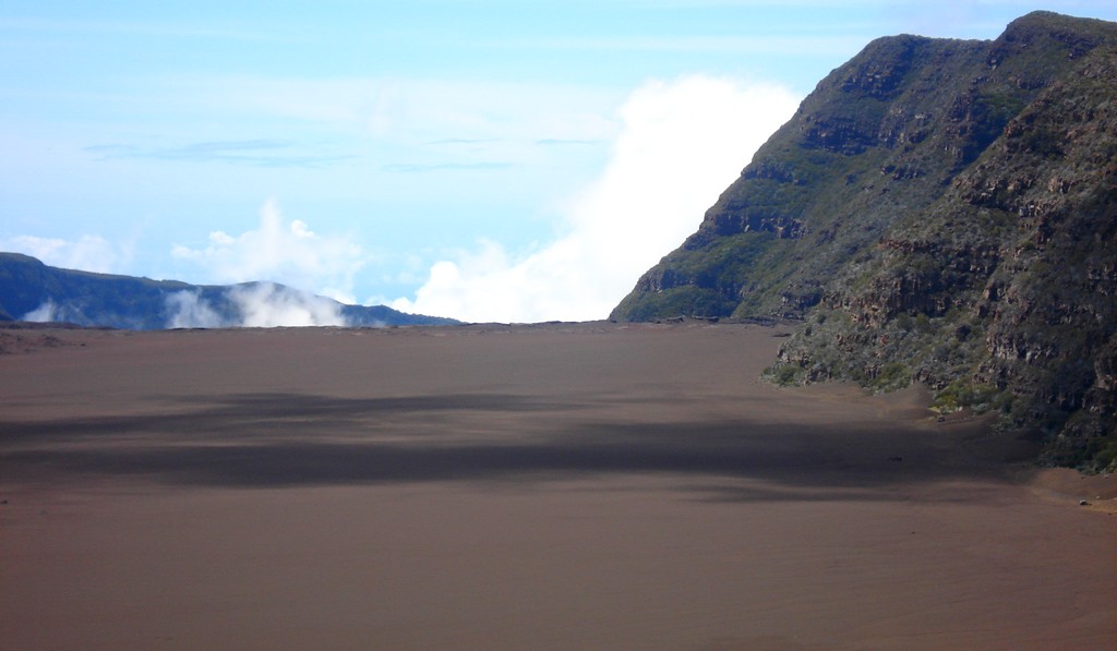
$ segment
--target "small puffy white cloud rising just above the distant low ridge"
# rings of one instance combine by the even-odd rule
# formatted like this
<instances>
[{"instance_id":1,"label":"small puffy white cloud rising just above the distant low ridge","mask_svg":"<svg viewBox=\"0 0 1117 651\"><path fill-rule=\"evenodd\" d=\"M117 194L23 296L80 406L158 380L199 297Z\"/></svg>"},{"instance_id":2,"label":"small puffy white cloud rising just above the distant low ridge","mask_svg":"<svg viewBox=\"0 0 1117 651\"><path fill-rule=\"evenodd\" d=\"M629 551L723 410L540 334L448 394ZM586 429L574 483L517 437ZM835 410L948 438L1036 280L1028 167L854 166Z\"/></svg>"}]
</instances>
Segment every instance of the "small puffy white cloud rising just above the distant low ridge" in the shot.
<instances>
[{"instance_id":1,"label":"small puffy white cloud rising just above the distant low ridge","mask_svg":"<svg viewBox=\"0 0 1117 651\"><path fill-rule=\"evenodd\" d=\"M350 304L354 278L367 260L350 238L319 236L304 221L286 221L271 200L260 210L257 229L239 236L213 231L206 248L176 245L171 255L202 266L210 283L270 280Z\"/></svg>"}]
</instances>

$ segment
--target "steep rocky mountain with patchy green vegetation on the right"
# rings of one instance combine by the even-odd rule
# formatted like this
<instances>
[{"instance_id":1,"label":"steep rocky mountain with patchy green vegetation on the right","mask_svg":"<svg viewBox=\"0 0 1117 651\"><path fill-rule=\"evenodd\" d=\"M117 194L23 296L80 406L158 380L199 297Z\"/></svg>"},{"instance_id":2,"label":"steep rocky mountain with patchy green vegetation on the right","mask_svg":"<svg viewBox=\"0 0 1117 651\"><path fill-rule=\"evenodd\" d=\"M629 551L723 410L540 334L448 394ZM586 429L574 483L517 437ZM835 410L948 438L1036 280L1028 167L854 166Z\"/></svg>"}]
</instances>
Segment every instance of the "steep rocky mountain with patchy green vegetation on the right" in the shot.
<instances>
[{"instance_id":1,"label":"steep rocky mountain with patchy green vegetation on the right","mask_svg":"<svg viewBox=\"0 0 1117 651\"><path fill-rule=\"evenodd\" d=\"M1117 465L1117 23L881 38L613 310L801 320L787 384L923 382L1043 461Z\"/></svg>"}]
</instances>

